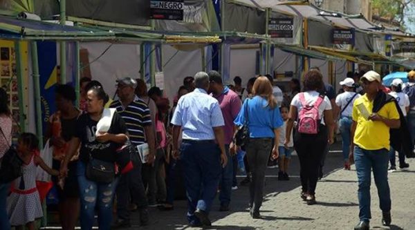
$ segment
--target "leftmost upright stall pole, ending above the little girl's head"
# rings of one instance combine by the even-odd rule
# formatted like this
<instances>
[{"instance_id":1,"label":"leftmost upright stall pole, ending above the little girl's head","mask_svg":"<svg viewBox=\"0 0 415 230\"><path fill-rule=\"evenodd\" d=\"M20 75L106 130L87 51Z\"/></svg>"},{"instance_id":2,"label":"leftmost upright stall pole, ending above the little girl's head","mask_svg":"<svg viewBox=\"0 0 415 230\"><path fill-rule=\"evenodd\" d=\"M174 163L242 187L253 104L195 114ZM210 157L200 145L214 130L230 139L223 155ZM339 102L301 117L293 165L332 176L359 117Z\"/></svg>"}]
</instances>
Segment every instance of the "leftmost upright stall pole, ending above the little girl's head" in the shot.
<instances>
[{"instance_id":1,"label":"leftmost upright stall pole, ending above the little girl's head","mask_svg":"<svg viewBox=\"0 0 415 230\"><path fill-rule=\"evenodd\" d=\"M19 125L20 125L20 132L26 131L26 110L24 106L24 85L23 85L23 77L24 77L24 67L23 67L23 51L21 50L21 41L15 41L15 54L16 54L16 70L17 70L17 93L19 95Z\"/></svg>"}]
</instances>

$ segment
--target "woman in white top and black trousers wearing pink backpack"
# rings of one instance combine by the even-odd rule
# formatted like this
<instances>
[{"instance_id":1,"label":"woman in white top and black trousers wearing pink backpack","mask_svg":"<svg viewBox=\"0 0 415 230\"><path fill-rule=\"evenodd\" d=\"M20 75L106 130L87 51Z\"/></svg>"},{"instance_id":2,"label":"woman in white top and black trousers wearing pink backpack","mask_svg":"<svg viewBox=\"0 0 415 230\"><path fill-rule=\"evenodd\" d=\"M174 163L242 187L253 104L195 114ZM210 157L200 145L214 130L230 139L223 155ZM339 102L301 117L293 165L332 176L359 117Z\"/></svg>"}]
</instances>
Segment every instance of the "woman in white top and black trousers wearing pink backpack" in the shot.
<instances>
[{"instance_id":1,"label":"woman in white top and black trousers wearing pink backpack","mask_svg":"<svg viewBox=\"0 0 415 230\"><path fill-rule=\"evenodd\" d=\"M320 162L327 144L333 143L333 111L330 100L318 91L324 87L320 71L310 70L304 77L304 91L293 98L286 127L286 143L290 142L294 122L294 148L299 158L302 192L308 205L315 204L315 187Z\"/></svg>"}]
</instances>

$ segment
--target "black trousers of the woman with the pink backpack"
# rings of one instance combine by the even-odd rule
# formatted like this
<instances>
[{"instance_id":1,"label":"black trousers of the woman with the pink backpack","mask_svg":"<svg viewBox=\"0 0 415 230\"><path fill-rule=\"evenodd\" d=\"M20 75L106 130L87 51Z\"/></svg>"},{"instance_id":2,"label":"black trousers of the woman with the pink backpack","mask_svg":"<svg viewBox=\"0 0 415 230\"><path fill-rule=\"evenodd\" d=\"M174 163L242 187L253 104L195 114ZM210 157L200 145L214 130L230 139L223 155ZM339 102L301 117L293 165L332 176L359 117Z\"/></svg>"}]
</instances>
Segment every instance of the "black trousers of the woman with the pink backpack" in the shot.
<instances>
[{"instance_id":1,"label":"black trousers of the woman with the pink backpack","mask_svg":"<svg viewBox=\"0 0 415 230\"><path fill-rule=\"evenodd\" d=\"M324 125L320 125L317 134L295 132L294 148L299 159L299 177L304 193L315 194L320 163L326 146L327 128Z\"/></svg>"}]
</instances>

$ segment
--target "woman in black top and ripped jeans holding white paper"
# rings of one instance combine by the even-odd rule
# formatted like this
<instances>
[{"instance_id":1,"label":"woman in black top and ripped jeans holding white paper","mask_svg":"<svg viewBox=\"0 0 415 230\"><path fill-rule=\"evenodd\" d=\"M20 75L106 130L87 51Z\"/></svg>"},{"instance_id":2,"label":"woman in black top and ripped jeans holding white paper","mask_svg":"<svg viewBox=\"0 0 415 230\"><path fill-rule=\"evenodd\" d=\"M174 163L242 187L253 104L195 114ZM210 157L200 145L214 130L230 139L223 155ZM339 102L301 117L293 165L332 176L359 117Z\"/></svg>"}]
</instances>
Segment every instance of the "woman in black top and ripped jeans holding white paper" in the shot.
<instances>
[{"instance_id":1,"label":"woman in black top and ripped jeans holding white paper","mask_svg":"<svg viewBox=\"0 0 415 230\"><path fill-rule=\"evenodd\" d=\"M115 162L116 150L127 140L127 128L118 115L113 114L107 133L96 133L97 124L104 112L108 95L100 87L93 87L87 93L87 113L77 119L75 137L69 142L68 154L61 166L61 175L68 174L68 162L80 148L80 160L77 163L77 179L80 186L81 229L93 227L95 206L98 208L99 229L111 229L113 193L117 179L110 183L100 183L86 178L86 167L91 160ZM95 134L96 133L96 134Z\"/></svg>"}]
</instances>

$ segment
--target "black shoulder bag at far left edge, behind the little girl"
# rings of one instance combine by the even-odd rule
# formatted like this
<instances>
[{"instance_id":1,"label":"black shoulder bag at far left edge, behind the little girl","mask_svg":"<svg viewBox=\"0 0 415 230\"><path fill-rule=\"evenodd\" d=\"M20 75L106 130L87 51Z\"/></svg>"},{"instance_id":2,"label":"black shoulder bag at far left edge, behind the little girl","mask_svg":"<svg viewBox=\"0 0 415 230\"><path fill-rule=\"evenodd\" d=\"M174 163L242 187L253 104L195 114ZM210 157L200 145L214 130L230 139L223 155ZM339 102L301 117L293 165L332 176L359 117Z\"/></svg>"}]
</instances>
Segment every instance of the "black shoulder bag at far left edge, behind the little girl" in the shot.
<instances>
[{"instance_id":1,"label":"black shoulder bag at far left edge, behind the little girl","mask_svg":"<svg viewBox=\"0 0 415 230\"><path fill-rule=\"evenodd\" d=\"M4 140L8 142L1 128L0 131ZM23 160L21 160L19 154L17 154L17 150L12 146L9 146L8 151L1 157L0 162L0 183L7 184L23 175L23 171L21 170Z\"/></svg>"}]
</instances>

